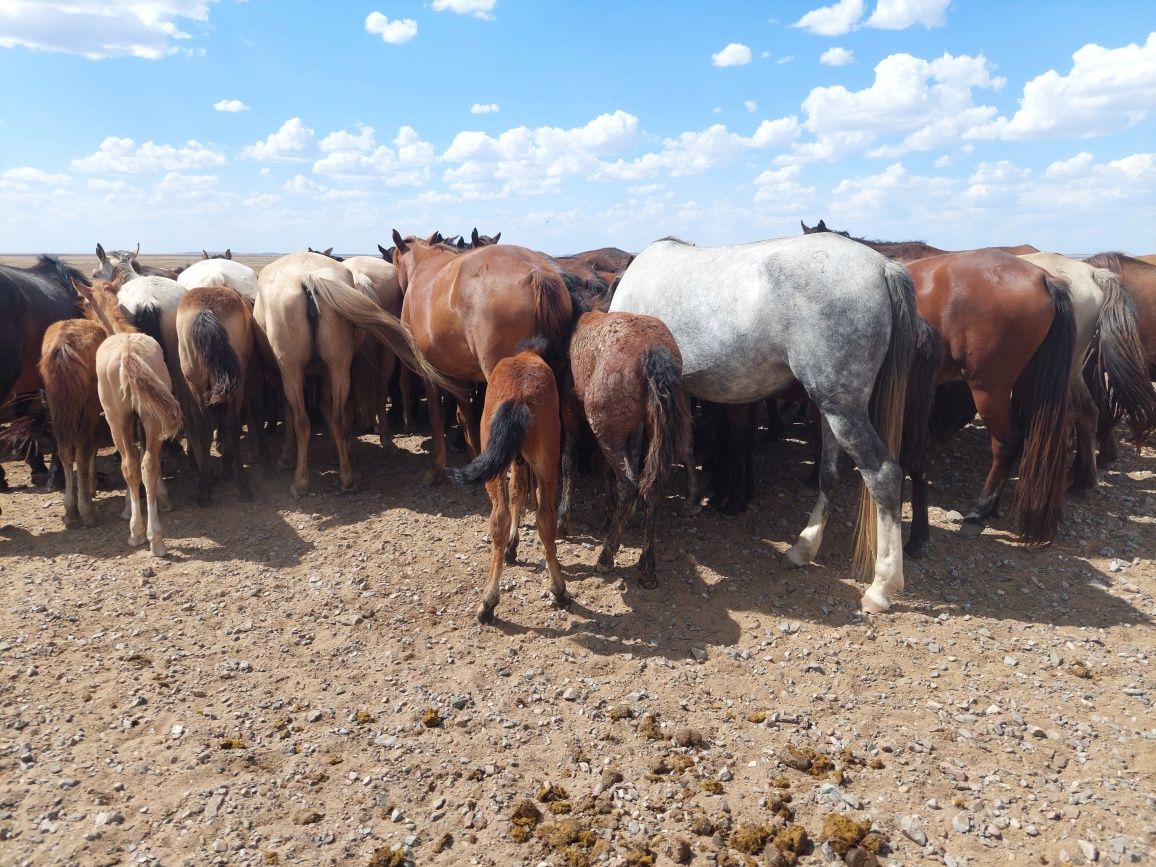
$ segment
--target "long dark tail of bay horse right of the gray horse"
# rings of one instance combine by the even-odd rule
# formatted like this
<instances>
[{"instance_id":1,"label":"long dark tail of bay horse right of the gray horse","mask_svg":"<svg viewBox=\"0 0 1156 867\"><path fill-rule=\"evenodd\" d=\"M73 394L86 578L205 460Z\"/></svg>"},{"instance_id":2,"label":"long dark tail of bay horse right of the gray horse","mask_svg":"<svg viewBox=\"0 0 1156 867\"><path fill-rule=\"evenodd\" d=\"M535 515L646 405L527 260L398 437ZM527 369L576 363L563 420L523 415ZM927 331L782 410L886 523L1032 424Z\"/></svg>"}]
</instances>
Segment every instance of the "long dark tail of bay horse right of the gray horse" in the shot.
<instances>
[{"instance_id":1,"label":"long dark tail of bay horse right of the gray horse","mask_svg":"<svg viewBox=\"0 0 1156 867\"><path fill-rule=\"evenodd\" d=\"M1048 275L1055 317L1016 383L1023 435L1016 511L1020 538L1051 541L1064 513L1068 451L1068 378L1076 344L1075 311L1066 280Z\"/></svg>"}]
</instances>

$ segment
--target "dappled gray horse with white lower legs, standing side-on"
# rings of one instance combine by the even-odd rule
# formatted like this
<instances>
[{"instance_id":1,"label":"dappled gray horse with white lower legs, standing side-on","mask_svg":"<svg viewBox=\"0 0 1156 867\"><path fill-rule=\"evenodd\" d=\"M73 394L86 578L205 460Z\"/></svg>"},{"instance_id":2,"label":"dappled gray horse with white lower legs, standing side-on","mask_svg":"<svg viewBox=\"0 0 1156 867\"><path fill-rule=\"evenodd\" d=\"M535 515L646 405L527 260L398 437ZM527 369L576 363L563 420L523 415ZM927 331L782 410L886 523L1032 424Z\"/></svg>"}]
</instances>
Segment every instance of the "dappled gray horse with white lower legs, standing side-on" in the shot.
<instances>
[{"instance_id":1,"label":"dappled gray horse with white lower legs, standing side-on","mask_svg":"<svg viewBox=\"0 0 1156 867\"><path fill-rule=\"evenodd\" d=\"M929 400L920 357L922 347L935 344L916 312L907 271L830 234L726 247L667 238L630 264L610 310L666 324L682 353L689 394L749 403L803 385L823 413L822 473L818 502L787 562L805 565L815 557L838 455L846 451L866 483L857 558L874 553L875 560L860 603L873 613L890 608L903 590L903 469L896 455L909 391Z\"/></svg>"}]
</instances>

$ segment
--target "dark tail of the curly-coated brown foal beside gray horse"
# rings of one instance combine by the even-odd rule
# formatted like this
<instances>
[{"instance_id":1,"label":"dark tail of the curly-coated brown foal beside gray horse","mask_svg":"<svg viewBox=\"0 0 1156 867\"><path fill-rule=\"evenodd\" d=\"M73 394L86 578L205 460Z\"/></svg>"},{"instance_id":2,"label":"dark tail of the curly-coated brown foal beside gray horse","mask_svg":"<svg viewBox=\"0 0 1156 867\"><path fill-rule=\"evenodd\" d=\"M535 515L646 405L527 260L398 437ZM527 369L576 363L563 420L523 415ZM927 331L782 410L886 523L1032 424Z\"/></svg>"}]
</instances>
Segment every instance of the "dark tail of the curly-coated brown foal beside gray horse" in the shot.
<instances>
[{"instance_id":1,"label":"dark tail of the curly-coated brown foal beside gray horse","mask_svg":"<svg viewBox=\"0 0 1156 867\"><path fill-rule=\"evenodd\" d=\"M682 397L682 364L666 347L643 353L646 379L646 432L650 445L638 480L638 492L650 499L666 468L682 460L690 436L690 413Z\"/></svg>"}]
</instances>

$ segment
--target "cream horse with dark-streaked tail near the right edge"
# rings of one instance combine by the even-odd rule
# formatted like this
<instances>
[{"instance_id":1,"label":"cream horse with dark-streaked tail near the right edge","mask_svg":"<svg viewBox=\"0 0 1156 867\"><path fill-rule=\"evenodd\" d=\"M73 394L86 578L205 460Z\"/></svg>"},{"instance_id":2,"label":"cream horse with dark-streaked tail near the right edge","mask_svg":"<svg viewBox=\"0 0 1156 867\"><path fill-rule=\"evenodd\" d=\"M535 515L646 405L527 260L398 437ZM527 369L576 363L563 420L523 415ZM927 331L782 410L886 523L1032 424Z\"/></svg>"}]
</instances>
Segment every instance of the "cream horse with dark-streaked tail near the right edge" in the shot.
<instances>
[{"instance_id":1,"label":"cream horse with dark-streaked tail near the right edge","mask_svg":"<svg viewBox=\"0 0 1156 867\"><path fill-rule=\"evenodd\" d=\"M1072 492L1096 487L1098 415L1127 418L1136 438L1156 429L1153 391L1136 323L1136 309L1109 268L1057 253L1022 257L1048 274L1067 280L1076 312L1075 364L1072 370L1072 412L1076 427L1076 459ZM1082 360L1087 357L1087 363Z\"/></svg>"}]
</instances>

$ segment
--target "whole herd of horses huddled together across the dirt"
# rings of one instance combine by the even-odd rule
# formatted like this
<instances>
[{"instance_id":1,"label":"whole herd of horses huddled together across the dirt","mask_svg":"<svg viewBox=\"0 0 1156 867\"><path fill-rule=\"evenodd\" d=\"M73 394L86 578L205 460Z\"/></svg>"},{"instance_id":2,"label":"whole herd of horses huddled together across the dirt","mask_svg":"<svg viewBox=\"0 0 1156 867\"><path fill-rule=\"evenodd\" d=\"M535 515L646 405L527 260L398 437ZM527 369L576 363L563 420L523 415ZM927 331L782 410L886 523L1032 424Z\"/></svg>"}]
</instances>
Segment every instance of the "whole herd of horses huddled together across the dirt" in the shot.
<instances>
[{"instance_id":1,"label":"whole herd of horses huddled together across the dirt","mask_svg":"<svg viewBox=\"0 0 1156 867\"><path fill-rule=\"evenodd\" d=\"M1153 261L1028 246L949 252L851 238L823 221L802 228L801 237L736 246L664 238L637 255L606 247L565 257L476 229L468 240L394 230L379 257L309 249L259 274L231 251L205 252L179 272L153 268L139 245L97 245L90 276L52 257L0 266L6 439L25 452L34 483L53 475L42 458L51 450L66 526L92 526L103 416L127 486L129 544L147 541L163 556L163 446L181 430L199 505L210 504L215 475L251 499L243 432L251 460L267 462L266 438L282 422L279 464L294 470L290 494L305 494L311 410L350 490L355 416L388 449L390 412L412 427L420 385L427 480L484 482L491 501L484 623L527 509L536 510L551 596L569 601L555 539L592 444L608 482L598 569L614 569L640 501L637 568L653 587L655 503L673 466L687 470L688 511L698 509L696 418L712 422L714 452L703 461L711 504L735 512L754 490L761 414L777 422L794 402L810 420L818 495L785 560L815 558L853 464L862 482L855 561L872 576L860 605L881 613L903 590L904 554L928 547L934 445L977 412L992 460L962 532L978 534L998 513L1018 460L1017 533L1028 544L1050 541L1065 495L1087 494L1097 462L1116 460L1117 423L1138 443L1156 429ZM473 457L449 472L447 409Z\"/></svg>"}]
</instances>

